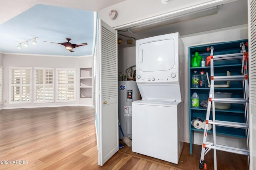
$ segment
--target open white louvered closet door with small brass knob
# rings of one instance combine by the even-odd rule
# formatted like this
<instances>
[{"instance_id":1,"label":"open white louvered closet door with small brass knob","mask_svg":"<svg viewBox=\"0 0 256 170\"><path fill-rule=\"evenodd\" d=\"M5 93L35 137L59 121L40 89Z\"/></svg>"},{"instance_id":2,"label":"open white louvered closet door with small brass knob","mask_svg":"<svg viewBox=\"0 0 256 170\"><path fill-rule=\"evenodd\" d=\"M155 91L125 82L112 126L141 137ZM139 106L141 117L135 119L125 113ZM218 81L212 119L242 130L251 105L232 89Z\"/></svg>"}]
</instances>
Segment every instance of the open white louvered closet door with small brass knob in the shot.
<instances>
[{"instance_id":1,"label":"open white louvered closet door with small brass knob","mask_svg":"<svg viewBox=\"0 0 256 170\"><path fill-rule=\"evenodd\" d=\"M98 164L118 151L117 31L97 20L98 25Z\"/></svg>"}]
</instances>

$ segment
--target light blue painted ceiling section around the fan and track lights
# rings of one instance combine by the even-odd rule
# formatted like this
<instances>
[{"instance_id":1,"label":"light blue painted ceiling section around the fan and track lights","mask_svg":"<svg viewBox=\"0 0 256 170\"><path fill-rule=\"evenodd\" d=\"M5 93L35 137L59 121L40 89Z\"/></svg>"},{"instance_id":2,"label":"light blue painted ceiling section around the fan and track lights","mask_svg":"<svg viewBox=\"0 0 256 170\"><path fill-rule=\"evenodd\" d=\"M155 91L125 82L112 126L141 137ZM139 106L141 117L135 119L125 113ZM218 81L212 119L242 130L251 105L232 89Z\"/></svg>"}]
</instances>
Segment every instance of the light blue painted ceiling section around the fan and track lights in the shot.
<instances>
[{"instance_id":1,"label":"light blue painted ceiling section around the fan and track lights","mask_svg":"<svg viewBox=\"0 0 256 170\"><path fill-rule=\"evenodd\" d=\"M0 52L39 55L86 56L94 50L94 13L88 10L36 4L32 8L0 25ZM29 47L18 49L19 43L29 41ZM70 52L56 43L88 43ZM50 41L55 43L46 43Z\"/></svg>"}]
</instances>

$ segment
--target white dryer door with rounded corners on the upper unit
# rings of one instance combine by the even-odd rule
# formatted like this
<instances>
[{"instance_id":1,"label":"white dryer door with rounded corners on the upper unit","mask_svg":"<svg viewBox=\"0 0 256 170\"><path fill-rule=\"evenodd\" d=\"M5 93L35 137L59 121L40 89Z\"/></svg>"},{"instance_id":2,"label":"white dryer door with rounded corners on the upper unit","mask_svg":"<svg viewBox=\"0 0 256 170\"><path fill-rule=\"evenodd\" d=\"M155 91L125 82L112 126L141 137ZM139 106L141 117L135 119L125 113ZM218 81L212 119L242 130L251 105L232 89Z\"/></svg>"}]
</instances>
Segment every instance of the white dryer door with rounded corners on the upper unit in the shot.
<instances>
[{"instance_id":1,"label":"white dryer door with rounded corners on the upper unit","mask_svg":"<svg viewBox=\"0 0 256 170\"><path fill-rule=\"evenodd\" d=\"M174 39L142 43L138 53L141 71L170 70L174 66Z\"/></svg>"}]
</instances>

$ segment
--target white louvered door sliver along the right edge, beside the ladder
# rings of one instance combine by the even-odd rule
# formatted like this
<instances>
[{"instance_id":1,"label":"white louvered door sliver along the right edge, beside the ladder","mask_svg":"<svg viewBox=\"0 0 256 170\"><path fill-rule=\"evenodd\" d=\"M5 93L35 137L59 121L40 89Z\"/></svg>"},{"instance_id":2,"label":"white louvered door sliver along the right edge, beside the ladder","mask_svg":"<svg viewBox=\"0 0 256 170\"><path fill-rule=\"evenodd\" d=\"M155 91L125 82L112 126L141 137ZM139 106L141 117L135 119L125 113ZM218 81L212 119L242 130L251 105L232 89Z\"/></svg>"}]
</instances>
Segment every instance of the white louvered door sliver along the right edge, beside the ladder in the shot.
<instances>
[{"instance_id":1,"label":"white louvered door sliver along the right edge, beside the ladder","mask_svg":"<svg viewBox=\"0 0 256 170\"><path fill-rule=\"evenodd\" d=\"M248 0L250 169L256 170L256 0Z\"/></svg>"}]
</instances>

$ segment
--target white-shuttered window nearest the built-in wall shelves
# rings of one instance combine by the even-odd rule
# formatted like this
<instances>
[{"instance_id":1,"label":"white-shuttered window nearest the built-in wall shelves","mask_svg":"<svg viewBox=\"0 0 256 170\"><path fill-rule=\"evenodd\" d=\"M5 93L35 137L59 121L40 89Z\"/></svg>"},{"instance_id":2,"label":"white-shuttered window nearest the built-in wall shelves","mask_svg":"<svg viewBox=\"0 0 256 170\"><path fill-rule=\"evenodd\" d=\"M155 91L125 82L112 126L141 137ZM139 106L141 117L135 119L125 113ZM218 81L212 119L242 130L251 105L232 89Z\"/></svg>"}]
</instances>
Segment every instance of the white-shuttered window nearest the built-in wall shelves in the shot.
<instances>
[{"instance_id":1,"label":"white-shuttered window nearest the built-in wall shelves","mask_svg":"<svg viewBox=\"0 0 256 170\"><path fill-rule=\"evenodd\" d=\"M76 69L57 68L57 102L76 101Z\"/></svg>"}]
</instances>

